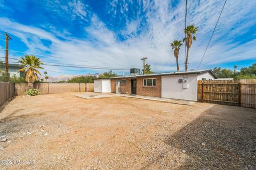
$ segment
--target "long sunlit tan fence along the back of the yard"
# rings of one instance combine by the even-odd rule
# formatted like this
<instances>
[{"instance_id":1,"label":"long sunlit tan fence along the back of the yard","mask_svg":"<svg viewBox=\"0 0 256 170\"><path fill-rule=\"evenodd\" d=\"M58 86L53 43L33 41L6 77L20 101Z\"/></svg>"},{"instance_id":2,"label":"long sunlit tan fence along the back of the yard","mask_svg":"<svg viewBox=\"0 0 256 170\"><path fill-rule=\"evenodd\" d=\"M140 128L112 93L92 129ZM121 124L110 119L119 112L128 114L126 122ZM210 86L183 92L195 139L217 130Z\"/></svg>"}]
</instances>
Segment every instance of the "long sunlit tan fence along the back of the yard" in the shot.
<instances>
[{"instance_id":1,"label":"long sunlit tan fence along the back of the yard","mask_svg":"<svg viewBox=\"0 0 256 170\"><path fill-rule=\"evenodd\" d=\"M40 94L93 91L93 83L34 83L33 86ZM15 88L17 95L24 95L29 89L28 83L15 83Z\"/></svg>"}]
</instances>

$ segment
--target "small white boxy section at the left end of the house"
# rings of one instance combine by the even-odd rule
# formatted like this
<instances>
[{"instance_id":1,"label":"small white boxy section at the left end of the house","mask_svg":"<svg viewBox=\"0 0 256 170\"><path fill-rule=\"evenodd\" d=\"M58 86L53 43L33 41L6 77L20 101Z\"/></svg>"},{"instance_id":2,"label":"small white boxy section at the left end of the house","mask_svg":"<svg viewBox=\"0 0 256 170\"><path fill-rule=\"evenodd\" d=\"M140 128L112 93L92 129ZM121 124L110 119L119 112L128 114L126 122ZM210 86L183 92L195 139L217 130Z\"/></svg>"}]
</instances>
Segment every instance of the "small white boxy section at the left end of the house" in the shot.
<instances>
[{"instance_id":1,"label":"small white boxy section at the left end of the house","mask_svg":"<svg viewBox=\"0 0 256 170\"><path fill-rule=\"evenodd\" d=\"M110 79L94 80L94 92L111 92Z\"/></svg>"}]
</instances>

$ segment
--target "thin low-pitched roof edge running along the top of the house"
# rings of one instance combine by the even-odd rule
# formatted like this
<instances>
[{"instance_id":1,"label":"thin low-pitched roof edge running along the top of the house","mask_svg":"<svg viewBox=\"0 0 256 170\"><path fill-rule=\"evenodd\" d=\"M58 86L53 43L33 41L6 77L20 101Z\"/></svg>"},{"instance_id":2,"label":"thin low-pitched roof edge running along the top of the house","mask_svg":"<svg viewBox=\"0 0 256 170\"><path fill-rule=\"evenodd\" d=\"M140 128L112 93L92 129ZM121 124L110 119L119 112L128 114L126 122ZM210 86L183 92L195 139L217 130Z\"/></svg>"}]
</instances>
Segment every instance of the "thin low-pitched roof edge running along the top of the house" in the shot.
<instances>
[{"instance_id":1,"label":"thin low-pitched roof edge running along the top of the house","mask_svg":"<svg viewBox=\"0 0 256 170\"><path fill-rule=\"evenodd\" d=\"M197 70L197 71L180 71L180 72L170 72L170 73L158 73L158 74L144 74L144 75L128 75L128 76L121 76L121 77L113 77L109 79L118 79L118 78L137 78L137 77L150 77L150 76L163 76L163 75L185 75L185 74L203 74L210 72L213 77L216 78L215 74L211 69L208 70Z\"/></svg>"}]
</instances>

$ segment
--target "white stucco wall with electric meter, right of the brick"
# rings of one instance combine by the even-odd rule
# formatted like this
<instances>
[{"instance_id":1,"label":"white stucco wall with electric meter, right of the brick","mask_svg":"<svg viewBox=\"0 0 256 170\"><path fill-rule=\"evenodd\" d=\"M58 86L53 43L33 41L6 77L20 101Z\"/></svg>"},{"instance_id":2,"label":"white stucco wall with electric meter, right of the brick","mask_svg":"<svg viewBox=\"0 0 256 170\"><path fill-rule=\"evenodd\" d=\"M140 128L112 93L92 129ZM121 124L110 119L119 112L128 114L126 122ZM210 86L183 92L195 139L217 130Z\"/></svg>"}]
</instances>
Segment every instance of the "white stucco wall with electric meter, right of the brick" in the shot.
<instances>
[{"instance_id":1,"label":"white stucco wall with electric meter, right of the brick","mask_svg":"<svg viewBox=\"0 0 256 170\"><path fill-rule=\"evenodd\" d=\"M186 79L188 88L179 79ZM197 74L162 76L162 98L197 101Z\"/></svg>"}]
</instances>

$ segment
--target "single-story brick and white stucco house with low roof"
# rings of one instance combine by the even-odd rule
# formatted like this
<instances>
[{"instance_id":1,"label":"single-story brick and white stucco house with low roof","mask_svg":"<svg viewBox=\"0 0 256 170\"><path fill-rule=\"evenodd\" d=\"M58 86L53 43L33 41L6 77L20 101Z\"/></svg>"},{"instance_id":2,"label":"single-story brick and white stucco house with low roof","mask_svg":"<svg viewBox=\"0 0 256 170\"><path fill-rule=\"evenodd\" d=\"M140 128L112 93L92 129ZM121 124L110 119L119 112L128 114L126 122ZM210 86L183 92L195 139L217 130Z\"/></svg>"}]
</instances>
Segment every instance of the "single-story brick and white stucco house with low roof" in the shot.
<instances>
[{"instance_id":1,"label":"single-story brick and white stucco house with low roof","mask_svg":"<svg viewBox=\"0 0 256 170\"><path fill-rule=\"evenodd\" d=\"M145 75L131 74L126 77L104 79L104 81L110 84L110 88L108 87L106 91L116 94L197 101L197 80L213 79L215 75L212 70L198 70ZM97 81L99 82L100 79Z\"/></svg>"}]
</instances>

